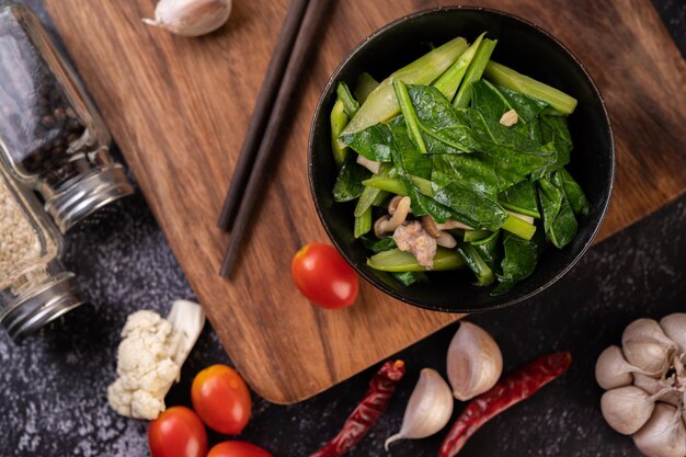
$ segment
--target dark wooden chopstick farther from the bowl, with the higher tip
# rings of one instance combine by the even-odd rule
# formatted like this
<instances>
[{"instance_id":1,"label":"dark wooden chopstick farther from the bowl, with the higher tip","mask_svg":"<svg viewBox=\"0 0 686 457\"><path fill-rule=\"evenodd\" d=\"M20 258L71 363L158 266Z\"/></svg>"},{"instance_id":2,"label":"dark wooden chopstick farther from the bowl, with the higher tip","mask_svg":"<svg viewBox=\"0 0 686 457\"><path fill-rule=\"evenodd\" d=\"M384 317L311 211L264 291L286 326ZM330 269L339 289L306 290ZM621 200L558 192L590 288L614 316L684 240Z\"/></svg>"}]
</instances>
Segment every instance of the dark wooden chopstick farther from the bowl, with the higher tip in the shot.
<instances>
[{"instance_id":1,"label":"dark wooden chopstick farther from the bowl, with the higher tip","mask_svg":"<svg viewBox=\"0 0 686 457\"><path fill-rule=\"evenodd\" d=\"M272 54L272 60L266 69L264 76L264 82L258 101L255 102L255 110L250 119L248 126L248 133L241 147L241 152L231 178L229 191L227 192L221 214L219 215L218 226L225 230L231 230L239 207L241 205L241 197L243 196L243 188L248 184L250 178L250 170L255 162L255 156L258 155L258 148L260 147L260 137L263 136L268 119L270 113L274 106L274 100L276 99L276 92L278 85L284 77L286 65L290 59L293 53L293 46L295 45L298 31L300 30L300 23L305 15L305 10L308 0L293 0L284 25L276 38L276 46Z\"/></svg>"}]
</instances>

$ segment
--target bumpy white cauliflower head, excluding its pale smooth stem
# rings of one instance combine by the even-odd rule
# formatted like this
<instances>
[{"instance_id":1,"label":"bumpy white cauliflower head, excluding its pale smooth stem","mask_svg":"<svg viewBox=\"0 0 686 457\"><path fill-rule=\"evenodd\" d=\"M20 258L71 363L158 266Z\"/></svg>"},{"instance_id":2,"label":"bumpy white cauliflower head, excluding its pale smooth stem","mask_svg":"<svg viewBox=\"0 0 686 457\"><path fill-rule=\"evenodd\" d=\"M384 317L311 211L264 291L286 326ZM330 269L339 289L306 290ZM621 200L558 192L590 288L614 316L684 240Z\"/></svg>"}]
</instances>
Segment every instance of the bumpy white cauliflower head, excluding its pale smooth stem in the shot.
<instances>
[{"instance_id":1,"label":"bumpy white cauliflower head, excluding its pale smooth stem","mask_svg":"<svg viewBox=\"0 0 686 457\"><path fill-rule=\"evenodd\" d=\"M153 311L137 311L122 330L117 375L107 388L110 405L119 414L157 419L164 411L164 396L181 366L173 361L179 338L169 321Z\"/></svg>"}]
</instances>

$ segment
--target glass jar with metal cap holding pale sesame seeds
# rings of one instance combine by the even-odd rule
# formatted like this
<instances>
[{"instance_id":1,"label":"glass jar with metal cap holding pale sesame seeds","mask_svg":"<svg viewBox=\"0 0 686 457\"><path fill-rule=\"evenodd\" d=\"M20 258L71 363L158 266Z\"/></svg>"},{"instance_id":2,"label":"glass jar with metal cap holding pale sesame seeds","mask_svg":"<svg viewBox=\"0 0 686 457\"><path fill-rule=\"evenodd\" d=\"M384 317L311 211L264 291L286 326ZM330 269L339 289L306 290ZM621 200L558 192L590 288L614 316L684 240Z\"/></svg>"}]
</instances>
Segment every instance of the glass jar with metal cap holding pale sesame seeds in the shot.
<instances>
[{"instance_id":1,"label":"glass jar with metal cap holding pale sesame seeds","mask_svg":"<svg viewBox=\"0 0 686 457\"><path fill-rule=\"evenodd\" d=\"M0 169L0 322L24 336L82 304L59 262L57 228L32 192Z\"/></svg>"}]
</instances>

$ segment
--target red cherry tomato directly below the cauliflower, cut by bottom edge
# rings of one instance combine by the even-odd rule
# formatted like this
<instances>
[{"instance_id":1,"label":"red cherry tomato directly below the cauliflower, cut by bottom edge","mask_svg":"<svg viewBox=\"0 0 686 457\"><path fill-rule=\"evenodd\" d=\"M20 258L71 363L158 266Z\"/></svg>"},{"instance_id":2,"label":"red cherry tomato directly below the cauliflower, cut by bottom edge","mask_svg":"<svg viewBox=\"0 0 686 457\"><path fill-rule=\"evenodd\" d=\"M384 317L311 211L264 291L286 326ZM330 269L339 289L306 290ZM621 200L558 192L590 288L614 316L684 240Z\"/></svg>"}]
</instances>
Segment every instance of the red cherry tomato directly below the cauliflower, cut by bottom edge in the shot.
<instances>
[{"instance_id":1,"label":"red cherry tomato directly below the cauliflower, cut by bottom edge","mask_svg":"<svg viewBox=\"0 0 686 457\"><path fill-rule=\"evenodd\" d=\"M205 457L207 432L193 411L173 407L150 422L148 445L152 457Z\"/></svg>"}]
</instances>

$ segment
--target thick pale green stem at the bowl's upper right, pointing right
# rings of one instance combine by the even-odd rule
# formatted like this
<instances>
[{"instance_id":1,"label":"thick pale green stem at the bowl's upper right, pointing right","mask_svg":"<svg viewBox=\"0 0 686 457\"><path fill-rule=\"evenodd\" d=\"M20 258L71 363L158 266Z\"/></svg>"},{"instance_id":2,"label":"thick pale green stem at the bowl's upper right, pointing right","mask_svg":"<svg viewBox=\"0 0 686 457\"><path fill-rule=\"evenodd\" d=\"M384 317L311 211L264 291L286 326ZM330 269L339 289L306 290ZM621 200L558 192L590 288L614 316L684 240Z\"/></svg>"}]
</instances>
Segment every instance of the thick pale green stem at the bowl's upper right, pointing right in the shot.
<instances>
[{"instance_id":1,"label":"thick pale green stem at the bowl's upper right, pointing right","mask_svg":"<svg viewBox=\"0 0 686 457\"><path fill-rule=\"evenodd\" d=\"M485 66L484 76L495 84L542 100L562 114L572 114L576 107L573 96L495 61Z\"/></svg>"}]
</instances>

